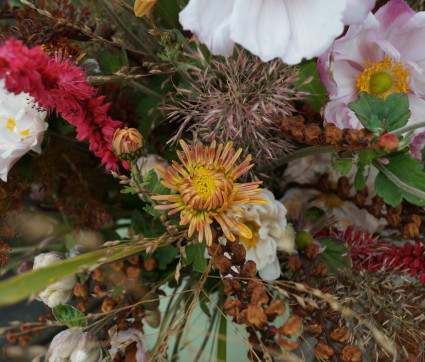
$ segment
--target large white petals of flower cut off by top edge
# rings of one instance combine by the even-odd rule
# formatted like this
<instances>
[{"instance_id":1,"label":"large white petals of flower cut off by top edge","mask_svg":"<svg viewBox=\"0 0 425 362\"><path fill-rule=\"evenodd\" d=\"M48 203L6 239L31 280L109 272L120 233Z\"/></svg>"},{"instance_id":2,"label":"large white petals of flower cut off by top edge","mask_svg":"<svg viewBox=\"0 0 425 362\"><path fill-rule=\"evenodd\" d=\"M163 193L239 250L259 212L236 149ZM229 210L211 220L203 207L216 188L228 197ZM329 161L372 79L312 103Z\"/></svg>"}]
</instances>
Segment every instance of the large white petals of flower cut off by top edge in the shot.
<instances>
[{"instance_id":1,"label":"large white petals of flower cut off by top edge","mask_svg":"<svg viewBox=\"0 0 425 362\"><path fill-rule=\"evenodd\" d=\"M345 25L362 22L375 0L190 0L180 13L213 54L230 56L235 43L262 61L297 64L321 55Z\"/></svg>"}]
</instances>

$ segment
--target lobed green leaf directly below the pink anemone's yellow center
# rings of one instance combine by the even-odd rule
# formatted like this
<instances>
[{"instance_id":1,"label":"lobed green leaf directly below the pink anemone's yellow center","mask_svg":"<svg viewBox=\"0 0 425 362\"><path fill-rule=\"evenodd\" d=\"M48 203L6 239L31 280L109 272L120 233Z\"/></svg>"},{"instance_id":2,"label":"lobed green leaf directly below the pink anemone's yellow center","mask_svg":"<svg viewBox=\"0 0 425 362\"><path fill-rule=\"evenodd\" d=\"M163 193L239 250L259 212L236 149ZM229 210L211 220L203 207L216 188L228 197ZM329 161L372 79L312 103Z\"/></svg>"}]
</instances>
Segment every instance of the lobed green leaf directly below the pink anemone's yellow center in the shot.
<instances>
[{"instance_id":1,"label":"lobed green leaf directly below the pink anemone's yellow center","mask_svg":"<svg viewBox=\"0 0 425 362\"><path fill-rule=\"evenodd\" d=\"M404 93L393 93L384 100L362 92L348 107L362 125L375 134L395 131L405 126L410 117L409 100Z\"/></svg>"}]
</instances>

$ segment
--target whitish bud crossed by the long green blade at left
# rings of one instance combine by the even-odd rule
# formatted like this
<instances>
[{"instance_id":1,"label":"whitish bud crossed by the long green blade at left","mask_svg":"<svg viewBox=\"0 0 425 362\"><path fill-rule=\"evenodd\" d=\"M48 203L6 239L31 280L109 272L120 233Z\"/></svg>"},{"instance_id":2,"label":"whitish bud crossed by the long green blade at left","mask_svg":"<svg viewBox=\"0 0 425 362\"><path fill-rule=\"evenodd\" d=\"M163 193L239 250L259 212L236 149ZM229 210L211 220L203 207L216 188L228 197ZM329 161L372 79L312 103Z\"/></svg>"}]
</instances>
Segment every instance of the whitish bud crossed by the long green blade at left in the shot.
<instances>
[{"instance_id":1,"label":"whitish bud crossed by the long green blade at left","mask_svg":"<svg viewBox=\"0 0 425 362\"><path fill-rule=\"evenodd\" d=\"M33 270L53 265L64 259L65 256L63 254L55 251L37 255L34 258ZM38 293L37 299L47 304L50 308L54 308L61 303L66 303L72 295L75 282L75 275L69 275L62 278Z\"/></svg>"}]
</instances>

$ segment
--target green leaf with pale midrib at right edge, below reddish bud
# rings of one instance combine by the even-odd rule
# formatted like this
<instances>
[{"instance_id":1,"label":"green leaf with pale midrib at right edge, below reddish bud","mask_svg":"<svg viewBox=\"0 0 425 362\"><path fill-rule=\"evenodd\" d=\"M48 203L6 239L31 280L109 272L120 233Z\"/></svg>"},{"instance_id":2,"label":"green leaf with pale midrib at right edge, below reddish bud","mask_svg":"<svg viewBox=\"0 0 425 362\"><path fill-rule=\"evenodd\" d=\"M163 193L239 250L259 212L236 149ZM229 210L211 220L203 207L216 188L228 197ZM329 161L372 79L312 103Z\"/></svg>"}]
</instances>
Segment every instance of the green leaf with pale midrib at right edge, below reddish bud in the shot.
<instances>
[{"instance_id":1,"label":"green leaf with pale midrib at right edge, below reddish bud","mask_svg":"<svg viewBox=\"0 0 425 362\"><path fill-rule=\"evenodd\" d=\"M384 167L394 176L413 188L425 191L425 172L423 171L422 163L418 159L408 154L398 154L389 158L389 160L388 165L384 165ZM402 198L415 205L425 206L425 200L399 188L382 172L375 179L375 188L378 195L391 206L400 204Z\"/></svg>"}]
</instances>

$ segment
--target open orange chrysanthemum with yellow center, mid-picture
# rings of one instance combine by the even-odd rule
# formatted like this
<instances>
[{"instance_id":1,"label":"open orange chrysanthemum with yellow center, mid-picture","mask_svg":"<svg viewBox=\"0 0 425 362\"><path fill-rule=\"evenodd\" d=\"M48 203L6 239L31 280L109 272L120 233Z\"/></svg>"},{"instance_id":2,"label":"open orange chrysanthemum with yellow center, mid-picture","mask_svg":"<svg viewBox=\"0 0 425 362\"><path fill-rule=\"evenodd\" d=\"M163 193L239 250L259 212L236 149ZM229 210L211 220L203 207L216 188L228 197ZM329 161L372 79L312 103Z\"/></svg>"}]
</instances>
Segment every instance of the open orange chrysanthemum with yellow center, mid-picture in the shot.
<instances>
[{"instance_id":1,"label":"open orange chrysanthemum with yellow center, mid-picture","mask_svg":"<svg viewBox=\"0 0 425 362\"><path fill-rule=\"evenodd\" d=\"M198 143L194 148L180 141L184 155L177 151L183 165L173 161L173 165L164 170L157 166L163 181L161 183L174 195L153 196L155 200L166 200L171 204L157 205L156 209L168 210L169 215L180 211L180 225L189 225L189 236L198 231L198 240L212 243L210 224L215 219L221 226L228 240L234 241L233 233L244 238L251 238L249 227L238 221L237 213L241 209L235 206L248 204L267 204L267 200L255 197L261 193L258 186L261 181L236 183L236 179L246 173L252 166L249 155L240 165L235 162L242 149L234 152L232 142L226 146L220 144L216 150L214 141L204 148Z\"/></svg>"}]
</instances>

